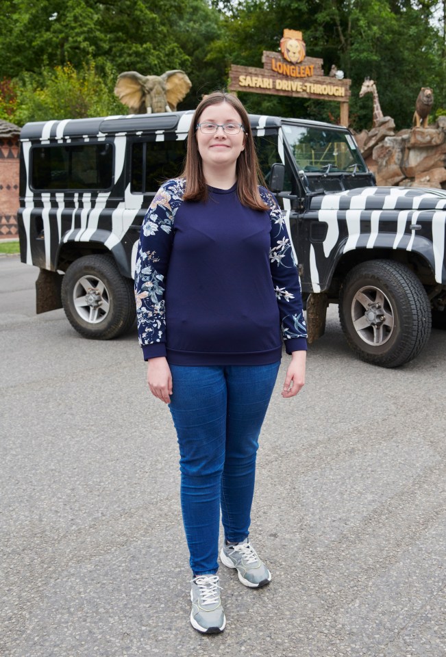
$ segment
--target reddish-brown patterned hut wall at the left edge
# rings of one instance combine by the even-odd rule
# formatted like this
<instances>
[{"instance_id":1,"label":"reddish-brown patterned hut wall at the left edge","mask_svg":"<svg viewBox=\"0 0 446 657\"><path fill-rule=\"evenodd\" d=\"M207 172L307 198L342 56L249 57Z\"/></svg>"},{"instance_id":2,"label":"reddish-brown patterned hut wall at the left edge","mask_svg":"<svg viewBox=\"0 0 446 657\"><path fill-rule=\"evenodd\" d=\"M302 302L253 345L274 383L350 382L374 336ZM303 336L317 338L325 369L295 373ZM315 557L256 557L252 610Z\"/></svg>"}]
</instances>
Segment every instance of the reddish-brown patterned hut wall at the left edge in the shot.
<instances>
[{"instance_id":1,"label":"reddish-brown patterned hut wall at the left edge","mask_svg":"<svg viewBox=\"0 0 446 657\"><path fill-rule=\"evenodd\" d=\"M18 237L18 137L0 138L0 240Z\"/></svg>"}]
</instances>

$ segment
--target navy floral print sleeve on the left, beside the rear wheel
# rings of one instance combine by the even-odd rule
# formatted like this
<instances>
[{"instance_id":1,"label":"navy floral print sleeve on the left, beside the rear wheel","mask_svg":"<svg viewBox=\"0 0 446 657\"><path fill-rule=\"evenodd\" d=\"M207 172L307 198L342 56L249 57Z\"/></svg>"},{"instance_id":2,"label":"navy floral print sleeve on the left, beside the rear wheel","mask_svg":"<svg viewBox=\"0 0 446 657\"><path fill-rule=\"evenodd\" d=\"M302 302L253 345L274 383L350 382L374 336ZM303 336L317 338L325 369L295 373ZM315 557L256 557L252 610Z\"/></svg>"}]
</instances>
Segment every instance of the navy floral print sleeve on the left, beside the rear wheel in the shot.
<instances>
[{"instance_id":1,"label":"navy floral print sleeve on the left, beside the rear wheel","mask_svg":"<svg viewBox=\"0 0 446 657\"><path fill-rule=\"evenodd\" d=\"M145 360L166 355L164 277L173 243L175 213L182 203L184 180L164 183L141 227L135 268L138 339Z\"/></svg>"}]
</instances>

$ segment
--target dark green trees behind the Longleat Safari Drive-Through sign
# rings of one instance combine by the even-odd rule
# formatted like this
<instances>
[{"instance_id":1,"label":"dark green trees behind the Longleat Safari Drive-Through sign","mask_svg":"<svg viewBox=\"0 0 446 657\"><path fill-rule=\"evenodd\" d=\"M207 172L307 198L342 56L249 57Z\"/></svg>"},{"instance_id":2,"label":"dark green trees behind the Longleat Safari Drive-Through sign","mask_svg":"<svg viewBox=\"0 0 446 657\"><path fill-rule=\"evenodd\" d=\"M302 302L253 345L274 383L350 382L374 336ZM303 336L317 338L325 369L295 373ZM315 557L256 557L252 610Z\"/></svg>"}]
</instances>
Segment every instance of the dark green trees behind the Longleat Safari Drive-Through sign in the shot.
<instances>
[{"instance_id":1,"label":"dark green trees behind the Longleat Safari Drive-Through sign","mask_svg":"<svg viewBox=\"0 0 446 657\"><path fill-rule=\"evenodd\" d=\"M215 1L224 29L208 58L260 66L262 50L277 50L284 27L300 29L307 52L322 57L350 78L350 116L357 129L371 127L371 96L359 99L364 77L377 83L384 114L408 127L421 86L432 86L436 105L445 86L440 30L432 23L438 3L424 0L249 0L243 5ZM251 111L332 120L336 103L240 94Z\"/></svg>"}]
</instances>

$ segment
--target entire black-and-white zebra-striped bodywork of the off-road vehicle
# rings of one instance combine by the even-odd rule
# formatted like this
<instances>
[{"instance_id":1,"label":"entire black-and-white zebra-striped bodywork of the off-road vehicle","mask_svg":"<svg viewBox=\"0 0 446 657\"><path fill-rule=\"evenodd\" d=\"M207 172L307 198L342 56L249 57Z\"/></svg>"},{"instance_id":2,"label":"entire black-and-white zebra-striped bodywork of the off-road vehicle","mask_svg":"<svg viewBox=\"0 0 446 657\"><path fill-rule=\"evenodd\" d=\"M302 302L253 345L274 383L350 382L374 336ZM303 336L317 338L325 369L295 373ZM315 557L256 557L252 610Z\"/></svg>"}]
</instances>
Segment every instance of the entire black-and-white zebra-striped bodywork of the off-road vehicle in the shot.
<instances>
[{"instance_id":1,"label":"entire black-and-white zebra-striped bodywork of the off-road vehicle","mask_svg":"<svg viewBox=\"0 0 446 657\"><path fill-rule=\"evenodd\" d=\"M143 137L153 142L185 140L192 116L191 111L169 112L25 125L21 131L25 196L18 213L23 261L56 270L62 246L88 242L105 246L114 255L121 273L133 276L139 227L151 196L130 190L128 138ZM258 115L251 115L250 120L254 135L277 136L277 151L285 162L282 120ZM86 142L114 144L111 190L42 193L30 188L32 145ZM293 235L291 203L284 199L283 205L288 233ZM308 244L293 245L296 260L303 263L303 291L328 289L336 263L343 255L351 250L373 248L418 253L432 268L435 281L445 285L445 210L443 190L367 187L314 196L303 217L311 230L299 234L299 240L308 240ZM421 228L412 228L414 224ZM314 234L318 237L312 239L315 225Z\"/></svg>"}]
</instances>

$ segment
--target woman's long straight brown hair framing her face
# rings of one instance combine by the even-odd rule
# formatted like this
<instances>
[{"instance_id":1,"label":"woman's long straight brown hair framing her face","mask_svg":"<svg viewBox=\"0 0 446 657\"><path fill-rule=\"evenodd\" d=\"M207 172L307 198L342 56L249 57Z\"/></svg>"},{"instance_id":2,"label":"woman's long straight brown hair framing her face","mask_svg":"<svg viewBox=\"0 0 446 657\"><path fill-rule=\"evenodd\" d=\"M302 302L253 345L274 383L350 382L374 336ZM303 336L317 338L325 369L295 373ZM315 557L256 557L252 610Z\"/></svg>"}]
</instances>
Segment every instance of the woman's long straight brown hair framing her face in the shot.
<instances>
[{"instance_id":1,"label":"woman's long straight brown hair framing her face","mask_svg":"<svg viewBox=\"0 0 446 657\"><path fill-rule=\"evenodd\" d=\"M240 203L251 207L253 210L267 209L268 206L262 201L258 190L259 182L262 185L265 183L258 164L247 111L236 96L231 96L221 91L216 91L203 98L195 110L192 123L190 123L186 165L181 175L182 178L186 179L184 201L206 201L208 198L208 186L203 175L203 164L198 150L196 127L206 107L218 103L228 103L234 107L234 110L240 114L243 127L245 128L245 150L240 153L236 163L237 194Z\"/></svg>"}]
</instances>

